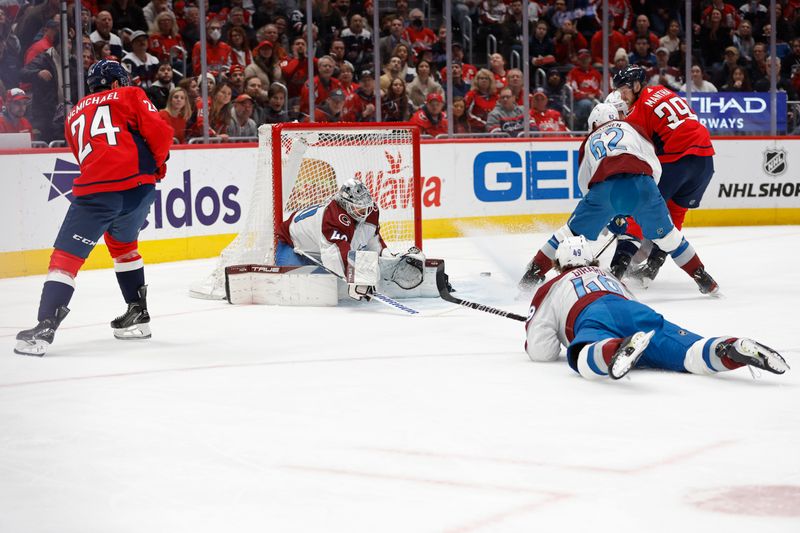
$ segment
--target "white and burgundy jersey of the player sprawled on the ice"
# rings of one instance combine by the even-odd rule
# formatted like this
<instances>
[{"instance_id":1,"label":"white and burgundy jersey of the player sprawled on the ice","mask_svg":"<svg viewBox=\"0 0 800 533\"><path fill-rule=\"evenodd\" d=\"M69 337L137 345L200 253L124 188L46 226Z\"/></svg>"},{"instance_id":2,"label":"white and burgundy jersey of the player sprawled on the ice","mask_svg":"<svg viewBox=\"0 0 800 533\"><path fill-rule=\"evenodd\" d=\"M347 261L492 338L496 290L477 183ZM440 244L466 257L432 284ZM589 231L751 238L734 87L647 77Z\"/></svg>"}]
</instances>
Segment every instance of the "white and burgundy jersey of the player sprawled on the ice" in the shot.
<instances>
[{"instance_id":1,"label":"white and burgundy jersey of the player sprawled on the ice","mask_svg":"<svg viewBox=\"0 0 800 533\"><path fill-rule=\"evenodd\" d=\"M569 346L574 338L581 311L608 294L636 299L617 278L593 266L568 270L542 285L533 296L525 324L528 356L534 361L558 359L561 346Z\"/></svg>"}]
</instances>

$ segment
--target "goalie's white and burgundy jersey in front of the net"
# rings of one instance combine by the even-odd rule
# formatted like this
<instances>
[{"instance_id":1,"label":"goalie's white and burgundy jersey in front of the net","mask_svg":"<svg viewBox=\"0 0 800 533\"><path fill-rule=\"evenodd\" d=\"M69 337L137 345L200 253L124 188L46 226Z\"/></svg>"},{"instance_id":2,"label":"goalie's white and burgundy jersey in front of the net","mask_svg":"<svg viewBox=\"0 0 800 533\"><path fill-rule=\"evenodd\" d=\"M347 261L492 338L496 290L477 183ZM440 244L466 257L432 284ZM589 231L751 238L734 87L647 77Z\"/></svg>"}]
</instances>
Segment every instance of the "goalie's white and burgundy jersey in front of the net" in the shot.
<instances>
[{"instance_id":1,"label":"goalie's white and burgundy jersey in front of the net","mask_svg":"<svg viewBox=\"0 0 800 533\"><path fill-rule=\"evenodd\" d=\"M344 276L347 252L370 250L380 253L386 243L380 236L376 208L364 222L357 222L331 200L326 206L312 205L295 211L278 231L278 239L319 257L322 264Z\"/></svg>"}]
</instances>

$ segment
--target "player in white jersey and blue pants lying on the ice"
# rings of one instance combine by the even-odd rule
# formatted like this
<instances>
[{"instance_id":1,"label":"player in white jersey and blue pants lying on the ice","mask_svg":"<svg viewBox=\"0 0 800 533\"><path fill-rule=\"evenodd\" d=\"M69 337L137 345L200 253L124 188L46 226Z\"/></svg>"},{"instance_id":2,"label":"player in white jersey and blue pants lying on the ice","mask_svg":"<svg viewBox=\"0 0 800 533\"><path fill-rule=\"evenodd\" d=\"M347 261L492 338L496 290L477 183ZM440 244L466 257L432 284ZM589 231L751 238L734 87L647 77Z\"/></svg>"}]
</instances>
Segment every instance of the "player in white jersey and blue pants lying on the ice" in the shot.
<instances>
[{"instance_id":1,"label":"player in white jersey and blue pants lying on the ice","mask_svg":"<svg viewBox=\"0 0 800 533\"><path fill-rule=\"evenodd\" d=\"M525 350L534 361L567 361L587 379L619 379L633 367L714 374L750 365L783 374L775 350L741 337L701 337L637 302L625 285L599 268L583 236L558 247L559 275L536 291L526 323Z\"/></svg>"}]
</instances>

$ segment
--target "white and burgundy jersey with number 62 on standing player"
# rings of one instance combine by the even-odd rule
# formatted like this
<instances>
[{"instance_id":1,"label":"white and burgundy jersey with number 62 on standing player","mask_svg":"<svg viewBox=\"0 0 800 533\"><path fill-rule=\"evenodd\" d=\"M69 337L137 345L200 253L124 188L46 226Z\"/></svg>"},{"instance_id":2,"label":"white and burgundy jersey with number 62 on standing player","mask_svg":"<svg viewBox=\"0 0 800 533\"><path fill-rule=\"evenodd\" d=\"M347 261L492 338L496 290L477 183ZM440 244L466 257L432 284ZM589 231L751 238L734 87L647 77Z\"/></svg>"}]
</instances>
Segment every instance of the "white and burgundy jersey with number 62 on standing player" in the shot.
<instances>
[{"instance_id":1,"label":"white and burgundy jersey with number 62 on standing player","mask_svg":"<svg viewBox=\"0 0 800 533\"><path fill-rule=\"evenodd\" d=\"M607 122L583 141L578 185L586 194L589 187L615 174L646 174L658 183L661 163L650 140L638 126L621 120Z\"/></svg>"}]
</instances>

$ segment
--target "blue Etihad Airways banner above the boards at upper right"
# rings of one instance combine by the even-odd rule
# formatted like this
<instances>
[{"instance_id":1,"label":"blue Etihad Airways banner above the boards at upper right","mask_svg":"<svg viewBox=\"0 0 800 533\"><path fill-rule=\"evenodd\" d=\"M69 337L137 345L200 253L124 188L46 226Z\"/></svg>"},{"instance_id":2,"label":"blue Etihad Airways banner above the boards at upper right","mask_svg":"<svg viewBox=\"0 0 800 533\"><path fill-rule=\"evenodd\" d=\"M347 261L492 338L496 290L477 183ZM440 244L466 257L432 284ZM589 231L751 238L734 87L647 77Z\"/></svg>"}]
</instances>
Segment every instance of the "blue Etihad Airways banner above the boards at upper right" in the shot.
<instances>
[{"instance_id":1,"label":"blue Etihad Airways banner above the boards at upper right","mask_svg":"<svg viewBox=\"0 0 800 533\"><path fill-rule=\"evenodd\" d=\"M778 133L786 133L786 93L776 96ZM713 135L770 132L769 93L692 93L692 110Z\"/></svg>"}]
</instances>

